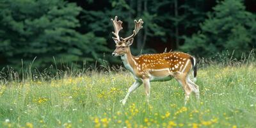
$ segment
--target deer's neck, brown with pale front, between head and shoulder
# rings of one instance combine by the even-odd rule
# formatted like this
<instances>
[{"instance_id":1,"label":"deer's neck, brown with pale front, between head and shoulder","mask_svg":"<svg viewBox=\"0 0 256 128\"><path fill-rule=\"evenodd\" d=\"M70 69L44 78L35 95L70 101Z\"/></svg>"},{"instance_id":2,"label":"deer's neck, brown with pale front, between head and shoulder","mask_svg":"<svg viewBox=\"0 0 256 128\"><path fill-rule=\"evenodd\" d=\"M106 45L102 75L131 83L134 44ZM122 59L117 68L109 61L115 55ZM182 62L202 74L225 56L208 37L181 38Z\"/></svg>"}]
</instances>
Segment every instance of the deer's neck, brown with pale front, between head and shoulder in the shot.
<instances>
[{"instance_id":1,"label":"deer's neck, brown with pale front, between head and shoulder","mask_svg":"<svg viewBox=\"0 0 256 128\"><path fill-rule=\"evenodd\" d=\"M136 65L138 64L135 61L134 56L132 56L130 48L126 54L121 56L121 59L124 63L125 68L127 68L127 70L129 70L130 72L132 72L132 74L134 74L134 67L136 67Z\"/></svg>"}]
</instances>

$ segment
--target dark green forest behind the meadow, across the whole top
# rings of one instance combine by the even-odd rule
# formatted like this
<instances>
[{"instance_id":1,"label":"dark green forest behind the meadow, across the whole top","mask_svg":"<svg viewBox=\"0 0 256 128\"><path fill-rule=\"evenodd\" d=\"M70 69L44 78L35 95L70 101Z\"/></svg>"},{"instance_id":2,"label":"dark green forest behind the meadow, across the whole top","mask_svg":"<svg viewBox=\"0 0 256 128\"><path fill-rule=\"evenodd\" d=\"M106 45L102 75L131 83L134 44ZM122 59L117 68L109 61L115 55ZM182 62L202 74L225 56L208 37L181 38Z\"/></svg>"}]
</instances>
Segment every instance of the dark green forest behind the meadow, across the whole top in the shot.
<instances>
[{"instance_id":1,"label":"dark green forest behind the meadow, across the whole top","mask_svg":"<svg viewBox=\"0 0 256 128\"><path fill-rule=\"evenodd\" d=\"M0 67L120 65L111 56L115 16L123 21L122 36L143 19L134 55L225 52L239 59L256 45L255 6L253 0L1 0Z\"/></svg>"}]
</instances>

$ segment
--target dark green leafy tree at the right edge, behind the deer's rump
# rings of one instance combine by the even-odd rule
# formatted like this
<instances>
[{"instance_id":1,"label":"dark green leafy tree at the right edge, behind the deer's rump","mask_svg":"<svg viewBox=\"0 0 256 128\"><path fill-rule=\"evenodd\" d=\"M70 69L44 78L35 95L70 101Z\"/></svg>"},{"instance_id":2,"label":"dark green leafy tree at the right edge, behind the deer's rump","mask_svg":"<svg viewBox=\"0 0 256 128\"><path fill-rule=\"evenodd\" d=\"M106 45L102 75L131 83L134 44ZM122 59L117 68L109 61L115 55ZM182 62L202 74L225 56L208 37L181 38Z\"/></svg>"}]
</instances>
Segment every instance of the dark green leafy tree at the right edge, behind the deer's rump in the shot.
<instances>
[{"instance_id":1,"label":"dark green leafy tree at the right edge, behind the deer's rump","mask_svg":"<svg viewBox=\"0 0 256 128\"><path fill-rule=\"evenodd\" d=\"M201 30L185 38L182 50L200 56L235 51L234 56L239 58L255 47L255 15L246 11L242 1L221 1L213 10L200 24Z\"/></svg>"}]
</instances>

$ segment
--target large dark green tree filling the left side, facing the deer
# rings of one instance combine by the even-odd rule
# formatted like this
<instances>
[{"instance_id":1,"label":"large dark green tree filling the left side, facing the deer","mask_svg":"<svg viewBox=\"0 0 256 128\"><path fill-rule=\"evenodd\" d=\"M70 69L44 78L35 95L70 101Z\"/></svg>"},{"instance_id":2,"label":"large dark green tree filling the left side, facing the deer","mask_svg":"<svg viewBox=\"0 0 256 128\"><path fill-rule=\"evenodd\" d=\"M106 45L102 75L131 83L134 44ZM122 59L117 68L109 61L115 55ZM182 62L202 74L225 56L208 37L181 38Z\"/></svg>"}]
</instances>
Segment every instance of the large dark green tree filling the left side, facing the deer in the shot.
<instances>
[{"instance_id":1,"label":"large dark green tree filling the left side, facing the deer","mask_svg":"<svg viewBox=\"0 0 256 128\"><path fill-rule=\"evenodd\" d=\"M106 40L81 34L77 15L82 8L64 0L0 1L0 54L13 67L33 63L49 67L60 63L102 61Z\"/></svg>"}]
</instances>

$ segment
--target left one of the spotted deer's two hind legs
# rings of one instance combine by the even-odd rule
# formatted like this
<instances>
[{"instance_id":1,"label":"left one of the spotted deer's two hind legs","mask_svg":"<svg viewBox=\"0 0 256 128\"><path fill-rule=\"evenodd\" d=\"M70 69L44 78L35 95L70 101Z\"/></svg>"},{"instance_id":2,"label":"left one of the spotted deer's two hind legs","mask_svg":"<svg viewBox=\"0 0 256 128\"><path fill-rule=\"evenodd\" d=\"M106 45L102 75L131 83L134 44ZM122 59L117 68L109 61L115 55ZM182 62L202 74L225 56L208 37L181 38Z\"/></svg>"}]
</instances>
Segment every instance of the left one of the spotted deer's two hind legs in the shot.
<instances>
[{"instance_id":1,"label":"left one of the spotted deer's two hind legs","mask_svg":"<svg viewBox=\"0 0 256 128\"><path fill-rule=\"evenodd\" d=\"M186 79L187 74L179 74L179 76L176 76L175 79L177 79L177 81L179 81L179 83L181 84L184 93L185 93L185 105L187 104L188 100L189 100L189 95L191 94L191 92L193 92L191 86L189 86L188 81Z\"/></svg>"}]
</instances>

